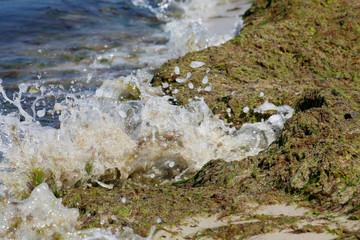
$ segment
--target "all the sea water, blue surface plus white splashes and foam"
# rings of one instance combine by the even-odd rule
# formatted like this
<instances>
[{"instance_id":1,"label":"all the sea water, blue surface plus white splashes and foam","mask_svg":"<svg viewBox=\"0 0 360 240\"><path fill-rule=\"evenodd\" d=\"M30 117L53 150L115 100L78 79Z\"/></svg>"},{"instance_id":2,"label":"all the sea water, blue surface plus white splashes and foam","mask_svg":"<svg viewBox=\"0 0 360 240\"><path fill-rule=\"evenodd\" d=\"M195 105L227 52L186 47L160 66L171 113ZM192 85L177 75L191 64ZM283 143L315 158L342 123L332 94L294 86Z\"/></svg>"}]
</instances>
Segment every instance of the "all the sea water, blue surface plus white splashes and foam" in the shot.
<instances>
[{"instance_id":1,"label":"all the sea water, blue surface plus white splashes and foam","mask_svg":"<svg viewBox=\"0 0 360 240\"><path fill-rule=\"evenodd\" d=\"M267 148L293 110L266 101L268 120L231 128L203 99L174 106L153 70L238 33L246 1L2 1L0 237L141 239L131 229L76 231L78 212L51 189L163 183L212 159ZM201 61L192 68L206 65ZM204 74L211 71L210 66ZM175 67L174 74L180 72ZM185 79L189 88L191 72ZM203 91L212 91L207 77ZM172 89L175 93L176 89ZM228 114L231 114L231 109ZM45 181L29 198L29 176ZM148 238L151 238L151 234Z\"/></svg>"}]
</instances>

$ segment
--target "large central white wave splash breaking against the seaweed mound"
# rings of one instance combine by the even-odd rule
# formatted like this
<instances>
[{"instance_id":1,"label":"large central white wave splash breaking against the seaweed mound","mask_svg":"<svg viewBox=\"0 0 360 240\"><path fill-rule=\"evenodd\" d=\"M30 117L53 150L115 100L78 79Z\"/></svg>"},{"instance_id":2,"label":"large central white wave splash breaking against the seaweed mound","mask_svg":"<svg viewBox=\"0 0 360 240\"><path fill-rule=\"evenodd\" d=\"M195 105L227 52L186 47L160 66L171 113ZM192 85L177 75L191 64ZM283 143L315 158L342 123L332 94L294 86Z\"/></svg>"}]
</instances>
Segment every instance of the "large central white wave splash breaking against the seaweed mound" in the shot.
<instances>
[{"instance_id":1,"label":"large central white wave splash breaking against the seaweed mound","mask_svg":"<svg viewBox=\"0 0 360 240\"><path fill-rule=\"evenodd\" d=\"M16 114L1 115L2 165L15 170L0 179L20 181L26 188L17 176L32 169L43 169L51 187L119 185L138 175L145 182L172 179L212 159L233 161L257 154L275 140L293 112L265 102L254 111L277 113L236 130L214 116L202 99L187 107L171 105L170 97L150 81L151 75L138 71L104 82L91 98L69 95L56 105L61 110L59 129L42 127L35 117L20 121Z\"/></svg>"}]
</instances>

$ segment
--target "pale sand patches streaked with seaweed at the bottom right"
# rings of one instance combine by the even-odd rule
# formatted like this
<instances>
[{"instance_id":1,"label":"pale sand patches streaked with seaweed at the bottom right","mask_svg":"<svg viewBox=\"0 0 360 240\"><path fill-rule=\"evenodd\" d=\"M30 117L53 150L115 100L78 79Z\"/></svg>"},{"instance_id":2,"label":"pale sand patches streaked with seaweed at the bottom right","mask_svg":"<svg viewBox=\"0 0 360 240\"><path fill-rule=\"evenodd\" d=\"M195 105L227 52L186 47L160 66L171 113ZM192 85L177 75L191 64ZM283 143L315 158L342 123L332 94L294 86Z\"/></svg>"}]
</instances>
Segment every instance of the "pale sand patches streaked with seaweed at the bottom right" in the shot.
<instances>
[{"instance_id":1,"label":"pale sand patches streaked with seaweed at the bottom right","mask_svg":"<svg viewBox=\"0 0 360 240\"><path fill-rule=\"evenodd\" d=\"M249 220L250 216L254 218ZM296 205L263 205L263 206L249 206L246 213L243 216L227 216L220 217L220 215L212 216L197 216L191 219L183 221L181 225L175 227L165 227L159 230L153 237L153 239L189 239L195 238L198 233L208 228L219 228L229 224L246 224L249 222L260 222L256 219L256 216L267 215L274 217L281 216L294 216L300 217L296 223L297 229L304 228L306 226L326 226L327 229L336 229L339 227L347 228L350 230L360 229L360 221L347 220L345 216L334 216L332 218L326 218L324 215L313 214L311 209L298 207ZM326 230L322 233L316 232L304 232L295 231L292 226L282 226L279 229L275 229L271 233L251 236L248 240L330 240L335 239L338 236L331 234ZM211 236L203 237L200 239L212 239Z\"/></svg>"}]
</instances>

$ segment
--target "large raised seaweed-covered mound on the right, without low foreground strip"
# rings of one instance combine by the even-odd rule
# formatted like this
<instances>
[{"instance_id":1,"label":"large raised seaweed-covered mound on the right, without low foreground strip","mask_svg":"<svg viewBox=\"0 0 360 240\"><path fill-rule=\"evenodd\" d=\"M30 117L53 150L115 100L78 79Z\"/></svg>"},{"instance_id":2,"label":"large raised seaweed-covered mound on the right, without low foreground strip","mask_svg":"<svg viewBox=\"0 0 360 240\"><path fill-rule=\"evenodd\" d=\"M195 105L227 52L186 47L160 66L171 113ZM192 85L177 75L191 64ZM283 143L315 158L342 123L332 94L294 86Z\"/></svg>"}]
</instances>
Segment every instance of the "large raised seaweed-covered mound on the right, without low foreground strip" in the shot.
<instances>
[{"instance_id":1,"label":"large raised seaweed-covered mound on the right, without low foreground strip","mask_svg":"<svg viewBox=\"0 0 360 240\"><path fill-rule=\"evenodd\" d=\"M245 160L252 162L247 175L326 206L359 205L360 2L259 0L245 23L240 35L222 46L170 60L153 83L177 89L164 89L177 104L203 97L215 114L234 126L257 121L254 111L243 109L265 99L293 106L296 113L278 140ZM194 69L193 61L205 65ZM177 81L188 72L193 89ZM203 83L205 76L208 84ZM212 90L203 90L209 84ZM204 168L207 174L195 176L193 186L228 184L232 163L224 163L223 171L209 166ZM244 169L230 172L240 176Z\"/></svg>"}]
</instances>

